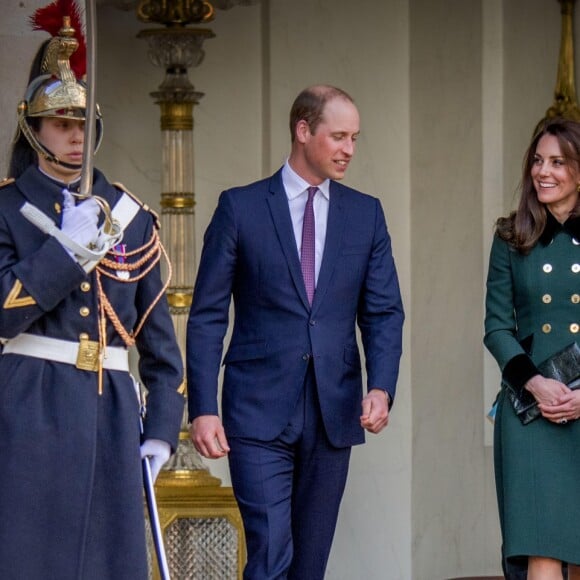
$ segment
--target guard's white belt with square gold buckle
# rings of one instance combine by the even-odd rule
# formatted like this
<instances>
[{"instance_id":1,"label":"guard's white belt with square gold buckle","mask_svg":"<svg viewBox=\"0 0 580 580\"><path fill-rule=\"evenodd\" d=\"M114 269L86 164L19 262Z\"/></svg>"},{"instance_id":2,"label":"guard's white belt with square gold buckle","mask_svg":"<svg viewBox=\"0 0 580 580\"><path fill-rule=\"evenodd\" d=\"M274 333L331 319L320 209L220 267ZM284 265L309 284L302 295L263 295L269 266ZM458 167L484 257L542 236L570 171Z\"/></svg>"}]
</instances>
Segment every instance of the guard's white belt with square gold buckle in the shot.
<instances>
[{"instance_id":1,"label":"guard's white belt with square gold buckle","mask_svg":"<svg viewBox=\"0 0 580 580\"><path fill-rule=\"evenodd\" d=\"M80 342L60 340L36 334L19 334L6 342L2 354L23 354L55 362L75 365L88 371L99 368L98 343L81 339ZM126 348L108 346L102 357L102 368L129 371L129 353Z\"/></svg>"}]
</instances>

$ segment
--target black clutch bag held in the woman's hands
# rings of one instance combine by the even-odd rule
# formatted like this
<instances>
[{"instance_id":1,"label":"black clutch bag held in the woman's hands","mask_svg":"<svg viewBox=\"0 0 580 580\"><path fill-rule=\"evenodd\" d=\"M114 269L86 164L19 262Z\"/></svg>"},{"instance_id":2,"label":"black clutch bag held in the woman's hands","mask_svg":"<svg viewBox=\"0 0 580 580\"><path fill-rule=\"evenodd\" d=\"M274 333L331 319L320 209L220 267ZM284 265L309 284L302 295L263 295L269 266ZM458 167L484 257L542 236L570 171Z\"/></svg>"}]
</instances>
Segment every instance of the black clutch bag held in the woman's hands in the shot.
<instances>
[{"instance_id":1,"label":"black clutch bag held in the woman's hands","mask_svg":"<svg viewBox=\"0 0 580 580\"><path fill-rule=\"evenodd\" d=\"M580 388L580 346L573 342L538 366L540 374L547 379L555 379L570 389ZM520 421L527 425L541 416L538 402L528 390L512 388L502 381L507 396Z\"/></svg>"}]
</instances>

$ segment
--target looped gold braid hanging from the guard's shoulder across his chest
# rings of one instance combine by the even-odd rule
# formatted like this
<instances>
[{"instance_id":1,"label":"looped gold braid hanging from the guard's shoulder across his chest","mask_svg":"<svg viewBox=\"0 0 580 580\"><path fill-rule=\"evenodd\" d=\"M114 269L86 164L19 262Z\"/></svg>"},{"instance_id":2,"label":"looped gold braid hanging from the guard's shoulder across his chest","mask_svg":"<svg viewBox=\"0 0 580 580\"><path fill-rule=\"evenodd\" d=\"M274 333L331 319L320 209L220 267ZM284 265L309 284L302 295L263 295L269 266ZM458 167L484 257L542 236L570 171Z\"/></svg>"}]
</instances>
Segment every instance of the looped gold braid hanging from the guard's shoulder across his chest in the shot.
<instances>
[{"instance_id":1,"label":"looped gold braid hanging from the guard's shoulder across his chest","mask_svg":"<svg viewBox=\"0 0 580 580\"><path fill-rule=\"evenodd\" d=\"M119 187L117 184L115 184ZM123 188L123 191L126 191ZM143 203L141 203L133 195L131 197L146 211L151 212ZM156 215L153 213L154 217ZM151 238L143 246L136 248L130 252L118 251L115 246L107 252L105 257L99 262L95 268L96 280L97 280L97 291L99 298L99 346L100 352L104 353L107 347L106 340L106 321L107 318L113 325L114 329L117 331L119 336L123 339L123 342L127 347L135 345L135 339L143 325L145 324L147 318L151 314L153 308L161 300L163 294L169 287L169 282L171 281L172 267L169 260L169 256L161 243L159 238L159 222L156 220L155 227L153 228ZM152 303L147 308L145 314L143 314L140 321L136 327L129 331L121 323L119 316L113 305L110 303L105 291L103 289L102 277L106 276L116 282L122 284L133 284L138 282L151 272L151 270L159 263L163 257L167 263L167 280L164 282L161 290L157 296L153 299ZM136 270L140 270L139 273L135 274ZM102 374L102 367L99 371ZM102 389L102 377L99 377L99 394L101 394Z\"/></svg>"}]
</instances>

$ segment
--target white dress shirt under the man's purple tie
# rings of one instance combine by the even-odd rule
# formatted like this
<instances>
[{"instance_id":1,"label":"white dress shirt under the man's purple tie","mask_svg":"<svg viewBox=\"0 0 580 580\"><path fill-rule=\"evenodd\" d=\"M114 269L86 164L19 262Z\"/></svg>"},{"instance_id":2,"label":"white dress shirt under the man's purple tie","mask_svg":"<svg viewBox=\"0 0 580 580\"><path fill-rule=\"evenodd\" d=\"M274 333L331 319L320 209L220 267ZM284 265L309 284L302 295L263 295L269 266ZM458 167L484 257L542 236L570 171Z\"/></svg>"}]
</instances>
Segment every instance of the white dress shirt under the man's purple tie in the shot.
<instances>
[{"instance_id":1,"label":"white dress shirt under the man's purple tie","mask_svg":"<svg viewBox=\"0 0 580 580\"><path fill-rule=\"evenodd\" d=\"M304 221L304 208L308 199L308 188L312 187L310 183L304 181L290 167L288 160L282 168L282 183L288 197L288 206L290 207L290 217L292 227L294 228L294 237L296 238L296 247L298 257L302 250L302 222ZM324 254L324 242L326 241L326 225L328 223L328 207L330 202L330 181L326 179L320 185L317 185L318 191L314 196L314 279L318 282L320 265L322 264L322 255Z\"/></svg>"}]
</instances>

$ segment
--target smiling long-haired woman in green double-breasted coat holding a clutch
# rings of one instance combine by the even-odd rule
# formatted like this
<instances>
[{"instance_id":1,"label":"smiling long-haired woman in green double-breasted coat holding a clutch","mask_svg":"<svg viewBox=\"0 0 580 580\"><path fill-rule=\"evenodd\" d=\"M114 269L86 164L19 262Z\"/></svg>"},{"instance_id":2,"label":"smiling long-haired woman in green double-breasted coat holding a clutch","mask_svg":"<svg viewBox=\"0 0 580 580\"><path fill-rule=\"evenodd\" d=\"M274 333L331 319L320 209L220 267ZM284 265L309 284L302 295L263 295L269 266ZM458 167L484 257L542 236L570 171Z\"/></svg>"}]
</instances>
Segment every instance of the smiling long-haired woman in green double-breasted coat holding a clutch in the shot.
<instances>
[{"instance_id":1,"label":"smiling long-haired woman in green double-breasted coat holding a clutch","mask_svg":"<svg viewBox=\"0 0 580 580\"><path fill-rule=\"evenodd\" d=\"M538 371L579 342L579 190L580 124L548 120L525 156L518 209L497 221L487 279L485 345L503 384L533 395L541 411L524 425L502 388L494 451L503 563L527 558L528 580L561 580L563 563L580 579L580 390Z\"/></svg>"}]
</instances>

